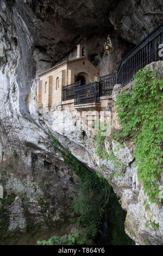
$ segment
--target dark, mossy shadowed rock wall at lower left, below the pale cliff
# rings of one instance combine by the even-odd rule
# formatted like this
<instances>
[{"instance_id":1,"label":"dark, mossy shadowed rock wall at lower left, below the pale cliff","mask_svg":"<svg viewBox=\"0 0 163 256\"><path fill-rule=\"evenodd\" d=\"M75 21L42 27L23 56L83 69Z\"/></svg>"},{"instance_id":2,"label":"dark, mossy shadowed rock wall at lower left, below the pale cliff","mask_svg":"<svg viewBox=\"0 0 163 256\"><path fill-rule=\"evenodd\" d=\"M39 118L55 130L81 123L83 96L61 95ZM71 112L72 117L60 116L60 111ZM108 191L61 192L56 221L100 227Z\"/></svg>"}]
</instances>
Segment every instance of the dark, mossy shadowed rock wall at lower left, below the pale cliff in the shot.
<instances>
[{"instance_id":1,"label":"dark, mossy shadowed rock wall at lower left, below the pale cliff","mask_svg":"<svg viewBox=\"0 0 163 256\"><path fill-rule=\"evenodd\" d=\"M16 231L68 225L68 220L74 217L71 205L77 177L59 160L59 155L55 159L46 153L40 155L38 149L37 153L34 151L28 167L22 157L10 156L1 163L0 182L5 191L0 205L2 237Z\"/></svg>"}]
</instances>

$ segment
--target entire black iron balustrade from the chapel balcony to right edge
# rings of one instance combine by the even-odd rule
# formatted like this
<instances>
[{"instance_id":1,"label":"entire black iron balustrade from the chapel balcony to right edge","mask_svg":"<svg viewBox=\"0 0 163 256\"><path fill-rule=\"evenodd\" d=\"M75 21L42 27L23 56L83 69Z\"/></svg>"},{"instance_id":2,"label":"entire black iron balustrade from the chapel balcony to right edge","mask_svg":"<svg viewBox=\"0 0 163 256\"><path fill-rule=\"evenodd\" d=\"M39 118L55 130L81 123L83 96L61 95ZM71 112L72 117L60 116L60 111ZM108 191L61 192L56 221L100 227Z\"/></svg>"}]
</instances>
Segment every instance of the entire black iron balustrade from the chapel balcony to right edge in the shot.
<instances>
[{"instance_id":1,"label":"entire black iron balustrade from the chapel balcony to right edge","mask_svg":"<svg viewBox=\"0 0 163 256\"><path fill-rule=\"evenodd\" d=\"M74 105L99 102L99 96L112 94L115 84L119 83L126 86L134 80L138 70L152 62L163 60L159 54L160 48L163 48L160 47L160 44L163 44L163 24L122 59L120 69L117 72L100 77L99 83L80 86L80 82L77 82L65 86L63 88L63 100L74 99Z\"/></svg>"}]
</instances>

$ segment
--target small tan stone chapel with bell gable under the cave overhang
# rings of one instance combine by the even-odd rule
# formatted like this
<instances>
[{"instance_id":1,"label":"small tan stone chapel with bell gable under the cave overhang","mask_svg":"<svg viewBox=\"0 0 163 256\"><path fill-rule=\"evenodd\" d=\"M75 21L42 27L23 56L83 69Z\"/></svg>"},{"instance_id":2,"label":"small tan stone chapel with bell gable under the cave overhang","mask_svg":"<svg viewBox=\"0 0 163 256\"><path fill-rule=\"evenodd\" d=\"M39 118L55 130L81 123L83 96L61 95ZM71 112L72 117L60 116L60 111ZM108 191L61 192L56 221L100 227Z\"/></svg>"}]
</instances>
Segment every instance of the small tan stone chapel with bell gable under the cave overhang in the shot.
<instances>
[{"instance_id":1,"label":"small tan stone chapel with bell gable under the cave overhang","mask_svg":"<svg viewBox=\"0 0 163 256\"><path fill-rule=\"evenodd\" d=\"M95 82L98 76L98 69L87 59L85 44L77 45L76 59L62 62L40 74L37 85L38 107L48 112L61 104L62 87L79 80L83 84Z\"/></svg>"}]
</instances>

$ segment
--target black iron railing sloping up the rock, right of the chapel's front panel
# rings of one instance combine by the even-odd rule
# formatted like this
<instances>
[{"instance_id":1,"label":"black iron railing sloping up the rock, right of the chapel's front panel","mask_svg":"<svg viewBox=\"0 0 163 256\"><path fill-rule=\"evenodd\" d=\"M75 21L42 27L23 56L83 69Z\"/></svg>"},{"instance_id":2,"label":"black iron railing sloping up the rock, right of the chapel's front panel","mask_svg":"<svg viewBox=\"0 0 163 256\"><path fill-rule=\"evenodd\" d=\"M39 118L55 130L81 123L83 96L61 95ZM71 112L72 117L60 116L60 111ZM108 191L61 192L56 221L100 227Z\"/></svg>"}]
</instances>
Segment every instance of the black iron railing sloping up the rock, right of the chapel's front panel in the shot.
<instances>
[{"instance_id":1,"label":"black iron railing sloping up the rock, right of the chapel's front panel","mask_svg":"<svg viewBox=\"0 0 163 256\"><path fill-rule=\"evenodd\" d=\"M159 56L160 44L163 44L163 24L157 27L155 31L149 34L122 59L118 72L100 77L100 95L111 95L116 83L126 86L126 84L134 80L138 70L152 62L163 60L163 57Z\"/></svg>"}]
</instances>

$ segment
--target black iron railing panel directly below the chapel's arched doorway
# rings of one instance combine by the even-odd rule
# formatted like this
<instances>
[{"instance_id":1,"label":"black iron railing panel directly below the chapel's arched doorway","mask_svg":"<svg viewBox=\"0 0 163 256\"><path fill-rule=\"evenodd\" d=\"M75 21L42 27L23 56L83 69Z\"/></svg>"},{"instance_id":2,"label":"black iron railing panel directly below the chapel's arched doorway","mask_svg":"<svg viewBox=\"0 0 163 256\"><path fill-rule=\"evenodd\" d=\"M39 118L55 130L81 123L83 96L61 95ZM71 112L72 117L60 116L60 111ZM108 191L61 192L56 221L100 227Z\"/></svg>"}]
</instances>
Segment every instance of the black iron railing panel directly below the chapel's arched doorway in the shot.
<instances>
[{"instance_id":1,"label":"black iron railing panel directly below the chapel's arched doorway","mask_svg":"<svg viewBox=\"0 0 163 256\"><path fill-rule=\"evenodd\" d=\"M94 82L74 89L74 105L99 102L99 83Z\"/></svg>"}]
</instances>

